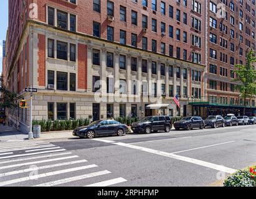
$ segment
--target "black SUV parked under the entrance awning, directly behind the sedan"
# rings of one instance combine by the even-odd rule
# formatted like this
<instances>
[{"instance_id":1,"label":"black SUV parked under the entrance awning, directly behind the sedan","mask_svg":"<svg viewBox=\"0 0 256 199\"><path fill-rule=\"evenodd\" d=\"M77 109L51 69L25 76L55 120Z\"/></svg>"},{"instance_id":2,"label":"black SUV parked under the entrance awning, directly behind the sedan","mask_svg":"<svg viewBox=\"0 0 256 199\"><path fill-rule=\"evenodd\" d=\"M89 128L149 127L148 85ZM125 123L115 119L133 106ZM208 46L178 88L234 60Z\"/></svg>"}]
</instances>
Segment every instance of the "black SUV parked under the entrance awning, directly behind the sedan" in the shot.
<instances>
[{"instance_id":1,"label":"black SUV parked under the entrance awning, directly behind the sedan","mask_svg":"<svg viewBox=\"0 0 256 199\"><path fill-rule=\"evenodd\" d=\"M137 123L132 123L132 131L150 134L154 131L170 132L172 120L169 116L149 116L141 119Z\"/></svg>"}]
</instances>

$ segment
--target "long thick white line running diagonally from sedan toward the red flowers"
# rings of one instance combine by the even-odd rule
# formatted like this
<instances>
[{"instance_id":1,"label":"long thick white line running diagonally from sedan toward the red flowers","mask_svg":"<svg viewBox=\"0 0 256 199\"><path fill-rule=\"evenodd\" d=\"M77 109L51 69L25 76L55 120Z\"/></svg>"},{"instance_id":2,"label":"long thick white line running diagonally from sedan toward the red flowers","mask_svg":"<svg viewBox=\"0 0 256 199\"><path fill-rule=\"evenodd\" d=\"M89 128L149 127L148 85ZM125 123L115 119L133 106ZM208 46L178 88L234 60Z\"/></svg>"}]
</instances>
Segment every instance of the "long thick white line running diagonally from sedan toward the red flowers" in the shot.
<instances>
[{"instance_id":1,"label":"long thick white line running diagonally from sedan toward the red flowers","mask_svg":"<svg viewBox=\"0 0 256 199\"><path fill-rule=\"evenodd\" d=\"M101 141L101 139L98 139L98 141ZM233 174L233 173L237 172L237 170L231 169L229 167L225 167L223 165L212 164L210 162L205 162L203 160L192 159L190 157L175 155L175 154L171 154L171 153L160 151L160 150L149 149L149 148L146 148L146 147L135 146L135 145L132 145L132 144L126 144L126 143L122 143L122 142L112 142L112 144L116 144L117 146L127 147L127 148L130 148L130 149L142 150L144 152L149 152L150 154L162 155L164 157L169 157L169 158L176 159L176 160L182 160L184 162L197 164L197 165L207 167L207 168L210 168L210 169L219 170L219 171L222 171L222 172L225 172L225 173L228 173L228 174Z\"/></svg>"}]
</instances>

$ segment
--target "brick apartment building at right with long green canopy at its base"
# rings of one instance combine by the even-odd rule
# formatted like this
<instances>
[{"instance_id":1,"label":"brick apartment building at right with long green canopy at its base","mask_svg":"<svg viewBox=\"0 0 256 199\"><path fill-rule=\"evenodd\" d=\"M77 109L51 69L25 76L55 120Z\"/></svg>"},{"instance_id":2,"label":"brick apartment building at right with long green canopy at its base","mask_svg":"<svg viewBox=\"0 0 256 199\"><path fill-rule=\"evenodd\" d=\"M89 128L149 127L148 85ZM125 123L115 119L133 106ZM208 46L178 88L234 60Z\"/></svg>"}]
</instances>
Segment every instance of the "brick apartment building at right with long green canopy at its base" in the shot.
<instances>
[{"instance_id":1,"label":"brick apartment building at right with long green canopy at its base","mask_svg":"<svg viewBox=\"0 0 256 199\"><path fill-rule=\"evenodd\" d=\"M190 104L204 107L207 115L241 114L244 101L234 89L234 66L245 65L247 52L255 50L255 1L211 0L205 8L207 100ZM247 99L247 106L247 115L256 113L255 98Z\"/></svg>"}]
</instances>

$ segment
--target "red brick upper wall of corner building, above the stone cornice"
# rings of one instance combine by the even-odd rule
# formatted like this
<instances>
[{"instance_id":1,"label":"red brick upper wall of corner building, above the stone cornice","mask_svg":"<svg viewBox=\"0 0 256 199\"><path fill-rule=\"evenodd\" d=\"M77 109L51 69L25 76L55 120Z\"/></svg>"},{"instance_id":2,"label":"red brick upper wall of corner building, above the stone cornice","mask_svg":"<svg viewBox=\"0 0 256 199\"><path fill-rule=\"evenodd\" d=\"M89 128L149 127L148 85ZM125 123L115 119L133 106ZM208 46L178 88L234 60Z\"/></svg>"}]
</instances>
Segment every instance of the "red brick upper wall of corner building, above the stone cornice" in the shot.
<instances>
[{"instance_id":1,"label":"red brick upper wall of corner building, above the stone cornice","mask_svg":"<svg viewBox=\"0 0 256 199\"><path fill-rule=\"evenodd\" d=\"M200 0L199 0L200 1ZM180 6L177 6L175 1L164 1L165 2L165 16L160 14L160 0L157 1L157 12L152 13L151 1L148 1L147 11L142 7L141 1L138 3L123 0L112 0L114 2L114 21L110 22L107 20L107 1L101 1L101 13L93 11L93 1L92 0L77 0L77 6L69 2L64 2L63 0L41 0L37 1L39 9L39 21L46 22L46 5L57 7L62 11L70 12L71 14L77 15L77 31L84 34L92 35L92 24L93 22L101 23L101 37L107 39L107 25L114 27L114 40L119 42L120 29L126 30L126 40L127 45L131 43L131 34L137 34L138 47L142 48L142 37L147 37L148 39L148 49L151 50L152 39L157 40L157 52L160 53L160 43L165 43L165 53L169 55L169 45L174 46L174 57L176 56L176 48L180 47L180 58L183 58L183 49L187 50L187 59L191 60L191 52L197 52L202 55L202 63L205 63L205 29L204 29L204 1L202 3L202 14L197 15L191 11L191 1L187 1L187 7L183 6L183 2L180 2ZM174 7L174 19L169 17L169 5ZM126 22L120 21L119 7L126 7L127 20ZM176 22L176 9L180 9L180 24ZM131 24L131 12L132 10L137 12L137 25ZM183 12L187 13L187 25L183 23ZM142 31L142 14L148 17L148 32L144 33ZM90 16L90 17L88 17ZM195 16L197 19L202 17L202 31L195 33L194 30L190 28L191 17ZM157 34L151 31L152 18L157 19ZM165 36L162 37L160 32L160 22L165 23ZM169 37L169 25L174 27L174 39ZM180 39L178 41L175 39L175 30L179 28ZM183 40L183 31L187 32L187 44ZM198 49L191 47L190 34L200 35L202 38L202 48Z\"/></svg>"}]
</instances>

